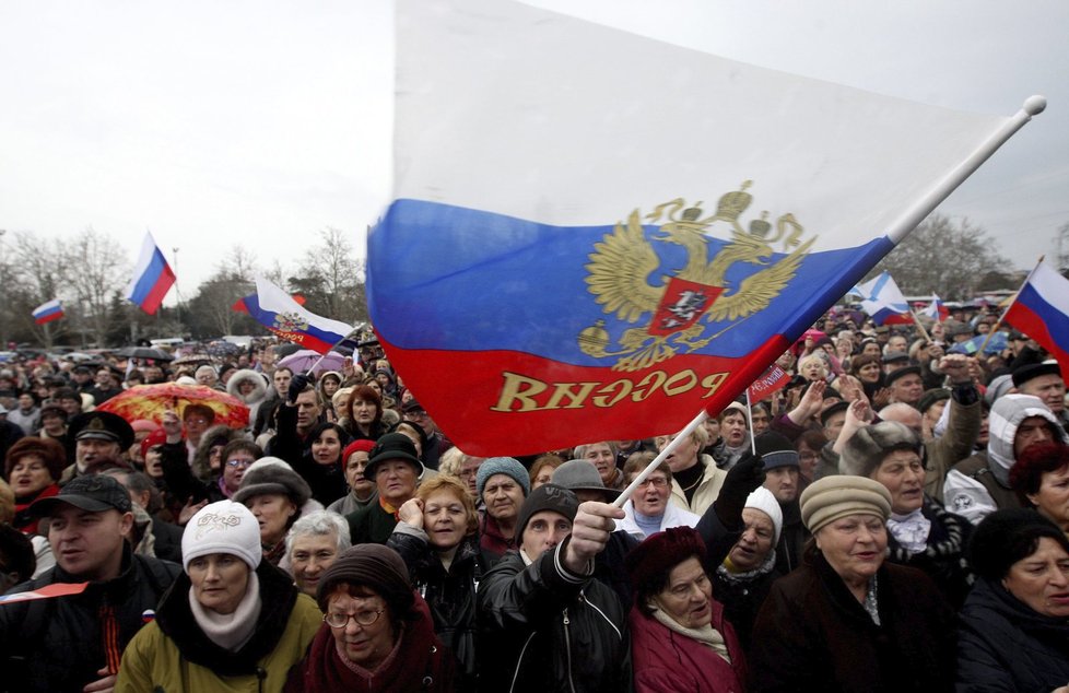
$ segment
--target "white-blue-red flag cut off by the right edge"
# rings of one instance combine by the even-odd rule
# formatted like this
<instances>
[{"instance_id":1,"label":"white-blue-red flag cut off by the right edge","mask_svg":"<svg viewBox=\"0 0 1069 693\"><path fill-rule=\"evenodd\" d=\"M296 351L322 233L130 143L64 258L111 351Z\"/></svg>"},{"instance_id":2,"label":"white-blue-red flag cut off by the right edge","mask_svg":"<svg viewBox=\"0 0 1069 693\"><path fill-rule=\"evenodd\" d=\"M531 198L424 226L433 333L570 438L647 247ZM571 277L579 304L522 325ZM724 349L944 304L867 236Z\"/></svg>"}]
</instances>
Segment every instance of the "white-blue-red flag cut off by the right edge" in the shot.
<instances>
[{"instance_id":1,"label":"white-blue-red flag cut off by the right edge","mask_svg":"<svg viewBox=\"0 0 1069 693\"><path fill-rule=\"evenodd\" d=\"M1039 262L1002 319L1050 352L1069 381L1069 280Z\"/></svg>"}]
</instances>

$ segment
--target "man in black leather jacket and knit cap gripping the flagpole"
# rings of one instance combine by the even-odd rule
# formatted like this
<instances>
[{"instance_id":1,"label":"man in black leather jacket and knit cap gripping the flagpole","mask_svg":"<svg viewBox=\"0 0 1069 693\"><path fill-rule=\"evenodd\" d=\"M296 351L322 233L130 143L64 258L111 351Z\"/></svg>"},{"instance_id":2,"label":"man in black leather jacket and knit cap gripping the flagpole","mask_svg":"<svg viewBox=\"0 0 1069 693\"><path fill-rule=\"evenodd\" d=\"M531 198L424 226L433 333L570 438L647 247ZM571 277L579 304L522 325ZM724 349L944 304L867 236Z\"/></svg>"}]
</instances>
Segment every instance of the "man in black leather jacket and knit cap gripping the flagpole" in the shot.
<instances>
[{"instance_id":1,"label":"man in black leather jacket and knit cap gripping the flagpole","mask_svg":"<svg viewBox=\"0 0 1069 693\"><path fill-rule=\"evenodd\" d=\"M623 510L552 483L531 492L509 551L479 586L486 691L632 690L626 610L594 579ZM573 521L574 520L574 521Z\"/></svg>"}]
</instances>

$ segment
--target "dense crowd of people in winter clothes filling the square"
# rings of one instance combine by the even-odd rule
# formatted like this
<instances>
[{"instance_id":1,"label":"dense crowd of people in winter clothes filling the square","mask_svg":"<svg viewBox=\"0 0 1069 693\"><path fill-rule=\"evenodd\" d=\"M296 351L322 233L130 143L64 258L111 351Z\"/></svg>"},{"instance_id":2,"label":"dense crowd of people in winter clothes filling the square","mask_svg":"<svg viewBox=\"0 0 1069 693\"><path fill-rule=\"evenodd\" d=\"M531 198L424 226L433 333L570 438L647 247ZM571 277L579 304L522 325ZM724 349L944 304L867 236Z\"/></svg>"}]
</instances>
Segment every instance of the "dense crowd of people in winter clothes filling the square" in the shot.
<instances>
[{"instance_id":1,"label":"dense crowd of people in winter clothes filling the square","mask_svg":"<svg viewBox=\"0 0 1069 693\"><path fill-rule=\"evenodd\" d=\"M0 364L0 690L1069 693L1066 385L952 349L995 322L831 315L693 431L490 458L371 348ZM97 409L171 381L248 418Z\"/></svg>"}]
</instances>

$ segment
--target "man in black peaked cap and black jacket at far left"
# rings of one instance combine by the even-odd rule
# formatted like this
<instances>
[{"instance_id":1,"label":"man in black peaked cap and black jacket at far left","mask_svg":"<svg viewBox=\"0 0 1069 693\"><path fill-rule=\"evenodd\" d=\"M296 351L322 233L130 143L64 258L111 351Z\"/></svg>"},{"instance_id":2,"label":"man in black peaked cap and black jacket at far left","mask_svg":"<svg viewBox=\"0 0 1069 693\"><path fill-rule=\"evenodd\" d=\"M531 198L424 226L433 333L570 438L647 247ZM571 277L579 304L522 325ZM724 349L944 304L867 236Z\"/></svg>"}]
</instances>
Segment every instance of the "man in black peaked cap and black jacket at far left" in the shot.
<instances>
[{"instance_id":1,"label":"man in black peaked cap and black jacket at far left","mask_svg":"<svg viewBox=\"0 0 1069 693\"><path fill-rule=\"evenodd\" d=\"M78 477L31 512L48 520L56 566L8 595L62 585L72 594L0 604L0 688L109 691L122 650L181 568L133 555L130 496L110 477Z\"/></svg>"}]
</instances>

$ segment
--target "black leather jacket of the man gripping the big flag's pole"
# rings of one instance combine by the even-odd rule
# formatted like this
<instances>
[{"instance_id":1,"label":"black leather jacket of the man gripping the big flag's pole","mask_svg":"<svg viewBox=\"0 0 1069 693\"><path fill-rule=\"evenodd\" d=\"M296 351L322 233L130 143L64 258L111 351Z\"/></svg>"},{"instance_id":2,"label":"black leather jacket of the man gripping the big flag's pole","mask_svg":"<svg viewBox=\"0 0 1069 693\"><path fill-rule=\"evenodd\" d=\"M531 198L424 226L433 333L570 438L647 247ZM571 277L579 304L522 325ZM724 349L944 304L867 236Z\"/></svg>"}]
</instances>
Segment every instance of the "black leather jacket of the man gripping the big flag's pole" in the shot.
<instances>
[{"instance_id":1,"label":"black leather jacket of the man gripping the big flag's pole","mask_svg":"<svg viewBox=\"0 0 1069 693\"><path fill-rule=\"evenodd\" d=\"M599 580L564 574L565 545L529 566L509 551L479 586L482 690L632 690L626 612Z\"/></svg>"}]
</instances>

